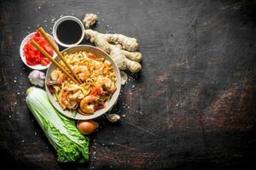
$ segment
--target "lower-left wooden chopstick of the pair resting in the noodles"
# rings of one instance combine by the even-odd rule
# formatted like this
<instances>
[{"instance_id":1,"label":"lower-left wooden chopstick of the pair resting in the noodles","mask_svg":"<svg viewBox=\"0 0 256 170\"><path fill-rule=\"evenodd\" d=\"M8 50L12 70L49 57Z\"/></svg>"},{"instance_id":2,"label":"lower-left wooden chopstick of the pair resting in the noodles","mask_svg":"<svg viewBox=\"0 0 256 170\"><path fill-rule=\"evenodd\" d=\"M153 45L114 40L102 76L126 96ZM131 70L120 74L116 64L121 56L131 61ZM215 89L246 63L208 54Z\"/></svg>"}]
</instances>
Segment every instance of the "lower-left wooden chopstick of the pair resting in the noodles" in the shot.
<instances>
[{"instance_id":1,"label":"lower-left wooden chopstick of the pair resting in the noodles","mask_svg":"<svg viewBox=\"0 0 256 170\"><path fill-rule=\"evenodd\" d=\"M32 46L34 46L35 48L37 48L42 54L44 54L44 56L49 59L52 63L54 63L59 69L61 69L61 71L63 71L67 77L69 77L73 82L79 84L79 82L74 79L65 69L63 69L63 67L61 67L61 65L55 61L55 59L53 59L49 54L47 54L43 48L41 48L37 42L34 42L33 40L30 42L32 44Z\"/></svg>"}]
</instances>

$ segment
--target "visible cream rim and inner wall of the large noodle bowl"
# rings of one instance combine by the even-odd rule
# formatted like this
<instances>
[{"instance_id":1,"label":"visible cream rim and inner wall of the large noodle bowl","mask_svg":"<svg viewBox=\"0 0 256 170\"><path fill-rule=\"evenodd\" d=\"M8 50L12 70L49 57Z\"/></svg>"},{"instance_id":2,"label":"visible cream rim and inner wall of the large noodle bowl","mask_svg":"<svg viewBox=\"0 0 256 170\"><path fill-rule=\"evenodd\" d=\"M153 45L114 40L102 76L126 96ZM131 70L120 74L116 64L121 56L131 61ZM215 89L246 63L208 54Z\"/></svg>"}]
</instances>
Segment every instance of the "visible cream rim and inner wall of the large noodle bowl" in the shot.
<instances>
[{"instance_id":1,"label":"visible cream rim and inner wall of the large noodle bowl","mask_svg":"<svg viewBox=\"0 0 256 170\"><path fill-rule=\"evenodd\" d=\"M104 108L101 108L97 111L94 111L91 114L81 114L79 111L76 110L68 110L68 109L63 109L61 107L60 103L58 102L58 99L56 99L55 94L52 94L49 90L49 86L47 86L47 83L45 84L46 92L49 97L49 101L51 102L52 105L54 105L55 109L59 111L62 115L67 116L69 118L72 118L74 120L90 120L94 119L98 116L102 116L106 112L110 111L113 108L113 105L116 104L117 99L119 97L120 93L120 88L121 88L121 77L120 77L120 72L118 66L115 64L113 59L109 57L108 54L106 54L102 49L96 48L94 46L90 45L77 45L71 48L67 48L63 51L61 51L61 54L75 54L77 52L84 51L86 53L92 53L95 54L96 58L104 58L105 60L108 60L111 63L111 66L113 68L113 74L116 77L115 81L115 91L111 95L110 99L105 102ZM61 61L59 56L56 56L55 58L56 61ZM51 73L55 71L57 68L54 64L50 64L49 68L46 72L46 77L45 77L45 82L51 81Z\"/></svg>"}]
</instances>

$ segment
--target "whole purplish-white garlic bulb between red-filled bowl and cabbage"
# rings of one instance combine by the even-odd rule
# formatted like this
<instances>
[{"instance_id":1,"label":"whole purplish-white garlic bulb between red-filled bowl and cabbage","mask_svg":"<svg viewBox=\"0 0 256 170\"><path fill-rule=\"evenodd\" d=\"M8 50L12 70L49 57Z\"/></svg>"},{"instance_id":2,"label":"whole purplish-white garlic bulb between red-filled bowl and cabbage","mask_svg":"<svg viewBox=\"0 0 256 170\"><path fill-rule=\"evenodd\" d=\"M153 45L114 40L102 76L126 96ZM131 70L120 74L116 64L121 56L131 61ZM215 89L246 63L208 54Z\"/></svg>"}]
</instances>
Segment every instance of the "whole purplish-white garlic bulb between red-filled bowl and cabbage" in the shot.
<instances>
[{"instance_id":1,"label":"whole purplish-white garlic bulb between red-filled bowl and cabbage","mask_svg":"<svg viewBox=\"0 0 256 170\"><path fill-rule=\"evenodd\" d=\"M28 75L29 82L33 85L44 87L45 74L42 71L32 71Z\"/></svg>"}]
</instances>

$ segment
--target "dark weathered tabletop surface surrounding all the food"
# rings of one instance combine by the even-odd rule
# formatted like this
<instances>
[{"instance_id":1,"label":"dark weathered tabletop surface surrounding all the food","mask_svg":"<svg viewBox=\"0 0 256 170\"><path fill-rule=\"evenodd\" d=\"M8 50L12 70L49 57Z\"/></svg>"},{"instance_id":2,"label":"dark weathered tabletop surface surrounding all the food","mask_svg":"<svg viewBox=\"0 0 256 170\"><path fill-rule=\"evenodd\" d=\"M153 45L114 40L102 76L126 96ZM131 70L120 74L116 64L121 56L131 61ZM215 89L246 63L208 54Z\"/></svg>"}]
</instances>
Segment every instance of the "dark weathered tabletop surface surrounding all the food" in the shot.
<instances>
[{"instance_id":1,"label":"dark weathered tabletop surface surrounding all the food","mask_svg":"<svg viewBox=\"0 0 256 170\"><path fill-rule=\"evenodd\" d=\"M1 166L20 169L255 167L255 3L235 0L1 1ZM20 42L55 19L99 16L96 31L136 37L143 70L90 136L90 163L60 164L25 103ZM84 43L89 43L84 40Z\"/></svg>"}]
</instances>

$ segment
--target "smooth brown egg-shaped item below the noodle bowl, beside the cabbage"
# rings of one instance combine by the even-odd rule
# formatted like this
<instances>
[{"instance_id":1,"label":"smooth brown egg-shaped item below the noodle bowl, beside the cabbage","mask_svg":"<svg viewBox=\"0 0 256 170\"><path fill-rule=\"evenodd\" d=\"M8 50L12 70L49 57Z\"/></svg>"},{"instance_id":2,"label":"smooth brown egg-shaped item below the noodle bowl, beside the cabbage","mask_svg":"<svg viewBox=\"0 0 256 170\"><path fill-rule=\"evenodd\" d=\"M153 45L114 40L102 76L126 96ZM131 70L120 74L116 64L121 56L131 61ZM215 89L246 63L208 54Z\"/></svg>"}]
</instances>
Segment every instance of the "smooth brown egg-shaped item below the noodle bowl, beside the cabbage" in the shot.
<instances>
[{"instance_id":1,"label":"smooth brown egg-shaped item below the noodle bowl, beside the cabbage","mask_svg":"<svg viewBox=\"0 0 256 170\"><path fill-rule=\"evenodd\" d=\"M99 127L99 124L92 120L79 121L77 124L77 127L78 127L80 133L90 134L90 133L93 133Z\"/></svg>"}]
</instances>

